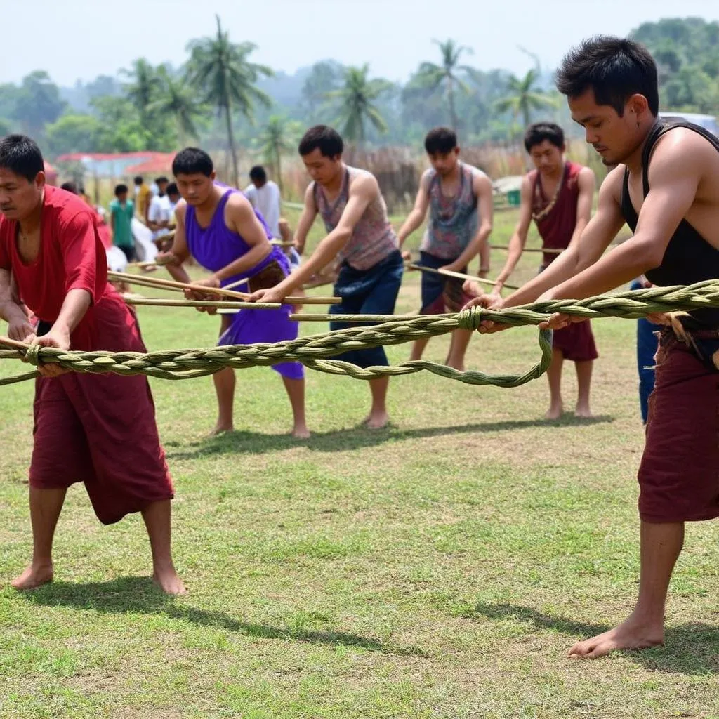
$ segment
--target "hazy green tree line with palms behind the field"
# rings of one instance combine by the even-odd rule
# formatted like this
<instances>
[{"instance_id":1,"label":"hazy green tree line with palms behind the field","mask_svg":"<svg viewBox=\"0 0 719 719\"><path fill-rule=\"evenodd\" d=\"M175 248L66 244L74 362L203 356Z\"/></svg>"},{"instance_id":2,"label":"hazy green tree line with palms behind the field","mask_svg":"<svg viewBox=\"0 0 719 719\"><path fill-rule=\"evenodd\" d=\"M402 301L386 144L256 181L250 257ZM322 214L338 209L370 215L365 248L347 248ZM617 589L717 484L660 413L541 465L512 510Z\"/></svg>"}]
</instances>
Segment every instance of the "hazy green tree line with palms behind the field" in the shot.
<instances>
[{"instance_id":1,"label":"hazy green tree line with palms behind the field","mask_svg":"<svg viewBox=\"0 0 719 719\"><path fill-rule=\"evenodd\" d=\"M562 122L566 103L539 62L522 76L478 70L472 50L435 40L434 60L404 84L372 77L370 65L316 63L294 76L252 61L251 42L235 42L219 17L216 32L188 42L180 68L134 60L117 78L61 90L44 70L0 85L0 134L36 137L50 156L65 152L169 152L188 142L260 152L280 177L281 157L303 127L334 124L355 145L419 145L426 129L447 124L465 143L516 139L533 119ZM719 113L719 23L664 19L633 36L659 65L665 109ZM531 55L531 53L527 53Z\"/></svg>"}]
</instances>

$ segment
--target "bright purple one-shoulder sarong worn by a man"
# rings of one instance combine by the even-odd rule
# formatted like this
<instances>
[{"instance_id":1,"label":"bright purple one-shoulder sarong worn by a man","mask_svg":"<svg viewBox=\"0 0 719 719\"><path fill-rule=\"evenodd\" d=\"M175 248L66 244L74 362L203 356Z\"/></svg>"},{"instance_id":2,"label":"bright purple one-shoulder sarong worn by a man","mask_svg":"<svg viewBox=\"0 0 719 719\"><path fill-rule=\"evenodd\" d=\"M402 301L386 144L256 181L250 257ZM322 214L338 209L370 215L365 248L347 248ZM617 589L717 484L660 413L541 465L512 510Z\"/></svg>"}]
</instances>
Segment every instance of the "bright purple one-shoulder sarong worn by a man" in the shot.
<instances>
[{"instance_id":1,"label":"bright purple one-shoulder sarong worn by a man","mask_svg":"<svg viewBox=\"0 0 719 719\"><path fill-rule=\"evenodd\" d=\"M224 221L224 208L233 192L237 190L229 188L223 194L207 227L198 224L195 209L191 205L187 206L185 231L188 248L197 262L210 272L218 272L249 252L247 242L244 242L239 234L232 232ZM257 211L255 214L265 228L267 239L270 239L271 234L262 215ZM271 262L280 265L285 277L290 274L290 265L285 253L279 247L273 246L272 252L262 262L244 273L223 280L222 286L252 277L264 270ZM298 323L290 320L291 312L290 305L283 305L277 310L243 309L232 315L232 324L222 334L218 344L274 343L283 342L285 339L297 339ZM301 380L304 377L304 367L299 362L280 362L278 365L273 365L273 370L277 370L280 375L290 380Z\"/></svg>"}]
</instances>

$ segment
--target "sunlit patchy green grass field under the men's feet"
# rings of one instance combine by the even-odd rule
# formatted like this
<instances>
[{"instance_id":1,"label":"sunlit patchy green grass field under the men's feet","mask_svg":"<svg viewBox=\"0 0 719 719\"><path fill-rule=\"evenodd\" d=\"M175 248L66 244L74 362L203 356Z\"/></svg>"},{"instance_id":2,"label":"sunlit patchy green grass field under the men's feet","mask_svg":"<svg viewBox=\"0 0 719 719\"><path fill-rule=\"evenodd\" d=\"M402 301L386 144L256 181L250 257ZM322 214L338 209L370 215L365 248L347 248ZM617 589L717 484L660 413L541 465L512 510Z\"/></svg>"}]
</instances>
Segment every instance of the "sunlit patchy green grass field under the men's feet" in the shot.
<instances>
[{"instance_id":1,"label":"sunlit patchy green grass field under the men's feet","mask_svg":"<svg viewBox=\"0 0 719 719\"><path fill-rule=\"evenodd\" d=\"M497 244L513 219L498 217ZM398 311L418 296L412 273ZM139 316L150 349L216 337L216 319L191 310ZM637 589L635 328L594 328L592 421L542 421L544 380L498 390L423 372L393 380L393 425L372 432L357 427L364 383L308 372L313 436L295 441L280 380L260 368L239 373L237 431L207 439L211 380L153 380L189 589L178 599L152 587L139 517L100 526L80 486L60 518L55 583L9 588L30 551L32 386L2 388L0 717L719 717L711 523L688 528L666 648L566 659L624 618ZM429 359L447 341L433 339ZM400 362L408 347L389 354ZM468 365L521 371L538 354L536 331L519 329L477 336Z\"/></svg>"}]
</instances>

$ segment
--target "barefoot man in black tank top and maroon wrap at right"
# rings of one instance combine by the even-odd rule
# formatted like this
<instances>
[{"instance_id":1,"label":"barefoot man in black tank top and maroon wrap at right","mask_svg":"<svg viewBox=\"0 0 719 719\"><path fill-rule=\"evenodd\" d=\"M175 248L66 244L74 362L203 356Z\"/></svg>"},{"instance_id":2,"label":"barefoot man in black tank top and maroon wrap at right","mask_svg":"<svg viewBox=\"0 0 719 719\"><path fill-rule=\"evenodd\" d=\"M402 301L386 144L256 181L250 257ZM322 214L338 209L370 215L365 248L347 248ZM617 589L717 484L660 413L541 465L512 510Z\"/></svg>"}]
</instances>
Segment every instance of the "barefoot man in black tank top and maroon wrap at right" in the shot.
<instances>
[{"instance_id":1,"label":"barefoot man in black tank top and maroon wrap at right","mask_svg":"<svg viewBox=\"0 0 719 719\"><path fill-rule=\"evenodd\" d=\"M633 40L594 37L569 52L557 74L575 122L608 167L597 214L577 242L503 308L541 299L599 295L646 275L655 285L719 278L719 141L699 127L658 119L656 65ZM625 221L634 236L603 256ZM669 579L684 522L719 516L719 313L656 318L664 329L639 470L641 577L636 606L616 628L576 644L571 656L664 643ZM577 318L558 315L551 329ZM485 323L480 331L505 327ZM719 357L719 354L716 355Z\"/></svg>"}]
</instances>

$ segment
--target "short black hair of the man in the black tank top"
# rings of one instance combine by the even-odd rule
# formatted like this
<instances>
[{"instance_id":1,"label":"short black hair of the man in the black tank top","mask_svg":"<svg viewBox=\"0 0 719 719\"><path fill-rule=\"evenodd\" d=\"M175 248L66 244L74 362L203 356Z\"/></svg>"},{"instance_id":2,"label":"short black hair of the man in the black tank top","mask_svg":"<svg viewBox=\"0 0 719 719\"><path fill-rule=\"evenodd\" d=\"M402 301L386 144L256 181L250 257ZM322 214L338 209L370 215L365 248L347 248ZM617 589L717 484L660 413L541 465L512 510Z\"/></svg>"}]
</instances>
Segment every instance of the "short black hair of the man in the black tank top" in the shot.
<instances>
[{"instance_id":1,"label":"short black hair of the man in the black tank top","mask_svg":"<svg viewBox=\"0 0 719 719\"><path fill-rule=\"evenodd\" d=\"M592 88L597 105L610 105L621 117L632 95L644 95L651 114L659 114L656 63L635 40L595 35L572 47L557 70L557 90L568 97Z\"/></svg>"}]
</instances>

